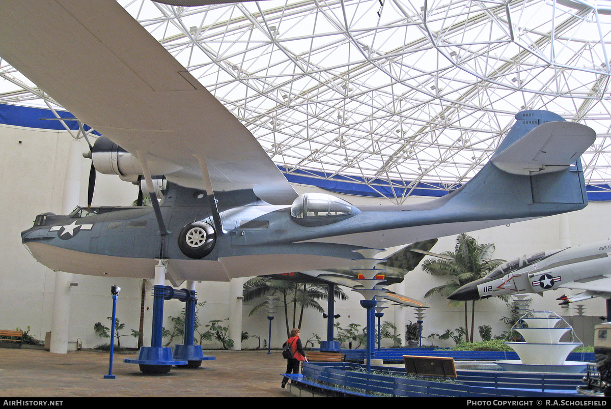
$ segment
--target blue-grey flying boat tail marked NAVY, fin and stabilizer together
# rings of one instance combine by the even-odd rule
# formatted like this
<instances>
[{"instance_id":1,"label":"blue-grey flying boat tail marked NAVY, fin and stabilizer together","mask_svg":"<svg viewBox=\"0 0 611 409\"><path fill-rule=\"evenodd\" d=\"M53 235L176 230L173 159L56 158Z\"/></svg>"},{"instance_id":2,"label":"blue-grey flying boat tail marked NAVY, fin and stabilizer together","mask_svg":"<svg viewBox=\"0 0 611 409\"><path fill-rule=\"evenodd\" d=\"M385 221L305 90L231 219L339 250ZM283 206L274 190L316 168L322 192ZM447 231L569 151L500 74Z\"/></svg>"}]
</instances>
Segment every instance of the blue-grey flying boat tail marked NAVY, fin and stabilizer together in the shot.
<instances>
[{"instance_id":1,"label":"blue-grey flying boat tail marked NAVY, fin and stabilizer together","mask_svg":"<svg viewBox=\"0 0 611 409\"><path fill-rule=\"evenodd\" d=\"M588 126L543 110L516 115L491 161L450 197L491 219L541 217L588 203L580 155L594 143ZM495 217L496 214L496 217Z\"/></svg>"}]
</instances>

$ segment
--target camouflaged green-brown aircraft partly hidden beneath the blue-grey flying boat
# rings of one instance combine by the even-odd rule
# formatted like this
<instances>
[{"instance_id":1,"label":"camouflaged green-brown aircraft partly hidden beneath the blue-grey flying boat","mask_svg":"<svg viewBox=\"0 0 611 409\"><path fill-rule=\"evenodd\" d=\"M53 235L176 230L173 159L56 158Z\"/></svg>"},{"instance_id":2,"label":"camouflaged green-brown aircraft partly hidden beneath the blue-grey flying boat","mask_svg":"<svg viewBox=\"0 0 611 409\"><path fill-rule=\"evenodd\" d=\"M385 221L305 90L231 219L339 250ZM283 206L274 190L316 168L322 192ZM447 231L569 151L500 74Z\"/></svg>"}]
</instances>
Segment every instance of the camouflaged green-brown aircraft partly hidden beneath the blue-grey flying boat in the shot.
<instances>
[{"instance_id":1,"label":"camouflaged green-brown aircraft partly hidden beneath the blue-grey flying boat","mask_svg":"<svg viewBox=\"0 0 611 409\"><path fill-rule=\"evenodd\" d=\"M379 277L384 281L381 281L379 284L387 286L401 283L405 275L415 269L425 255L442 256L429 251L436 243L437 239L415 242L381 260L376 268L380 269ZM363 275L349 268L273 274L264 277L273 278L274 280L292 281L294 283L338 284L352 289L362 287L358 280L364 278ZM393 291L386 291L381 297L387 301L414 308L429 307L423 301L408 297L407 295L397 294Z\"/></svg>"}]
</instances>

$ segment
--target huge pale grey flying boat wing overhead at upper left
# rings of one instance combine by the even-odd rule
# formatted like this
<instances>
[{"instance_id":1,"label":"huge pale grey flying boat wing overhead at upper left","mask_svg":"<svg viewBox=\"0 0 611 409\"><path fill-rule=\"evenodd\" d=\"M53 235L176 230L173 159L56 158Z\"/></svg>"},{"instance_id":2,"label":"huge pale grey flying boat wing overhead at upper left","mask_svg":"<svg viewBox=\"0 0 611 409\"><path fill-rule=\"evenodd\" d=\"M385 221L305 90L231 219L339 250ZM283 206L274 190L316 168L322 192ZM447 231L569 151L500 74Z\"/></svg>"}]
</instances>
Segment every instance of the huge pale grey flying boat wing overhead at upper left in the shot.
<instances>
[{"instance_id":1,"label":"huge pale grey flying boat wing overhead at upper left","mask_svg":"<svg viewBox=\"0 0 611 409\"><path fill-rule=\"evenodd\" d=\"M251 132L117 2L0 2L0 56L153 175L271 204L295 190Z\"/></svg>"}]
</instances>

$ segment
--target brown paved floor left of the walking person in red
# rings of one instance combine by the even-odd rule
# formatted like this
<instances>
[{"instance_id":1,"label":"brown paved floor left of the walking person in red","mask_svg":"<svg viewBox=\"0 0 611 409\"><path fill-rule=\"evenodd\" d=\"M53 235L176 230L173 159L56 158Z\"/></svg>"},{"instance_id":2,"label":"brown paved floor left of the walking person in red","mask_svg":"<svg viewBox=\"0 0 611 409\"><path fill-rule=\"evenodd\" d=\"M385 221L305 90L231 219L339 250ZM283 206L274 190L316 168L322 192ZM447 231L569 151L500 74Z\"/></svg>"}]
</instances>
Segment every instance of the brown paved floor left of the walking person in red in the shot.
<instances>
[{"instance_id":1,"label":"brown paved floor left of the walking person in red","mask_svg":"<svg viewBox=\"0 0 611 409\"><path fill-rule=\"evenodd\" d=\"M167 375L143 375L115 353L82 350L66 355L40 349L0 348L0 397L291 397L280 389L285 360L280 351L205 351L214 361L197 369L173 367Z\"/></svg>"}]
</instances>

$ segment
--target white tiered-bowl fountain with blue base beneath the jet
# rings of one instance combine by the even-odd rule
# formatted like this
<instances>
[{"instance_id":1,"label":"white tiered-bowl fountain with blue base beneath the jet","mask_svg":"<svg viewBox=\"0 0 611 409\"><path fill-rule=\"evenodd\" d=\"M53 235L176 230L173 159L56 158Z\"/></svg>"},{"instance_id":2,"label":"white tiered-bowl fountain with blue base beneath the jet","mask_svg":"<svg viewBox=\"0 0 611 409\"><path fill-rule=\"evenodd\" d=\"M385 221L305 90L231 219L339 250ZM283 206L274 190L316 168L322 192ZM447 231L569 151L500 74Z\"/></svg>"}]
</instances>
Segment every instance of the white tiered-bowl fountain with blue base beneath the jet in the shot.
<instances>
[{"instance_id":1,"label":"white tiered-bowl fountain with blue base beneath the jet","mask_svg":"<svg viewBox=\"0 0 611 409\"><path fill-rule=\"evenodd\" d=\"M511 372L570 372L585 371L586 363L566 361L569 353L581 342L560 342L565 333L572 331L570 325L557 328L559 322L566 321L552 311L530 311L518 323L524 328L513 328L524 341L503 342L518 353L519 360L494 361L505 371Z\"/></svg>"}]
</instances>

